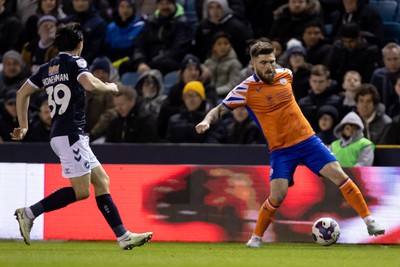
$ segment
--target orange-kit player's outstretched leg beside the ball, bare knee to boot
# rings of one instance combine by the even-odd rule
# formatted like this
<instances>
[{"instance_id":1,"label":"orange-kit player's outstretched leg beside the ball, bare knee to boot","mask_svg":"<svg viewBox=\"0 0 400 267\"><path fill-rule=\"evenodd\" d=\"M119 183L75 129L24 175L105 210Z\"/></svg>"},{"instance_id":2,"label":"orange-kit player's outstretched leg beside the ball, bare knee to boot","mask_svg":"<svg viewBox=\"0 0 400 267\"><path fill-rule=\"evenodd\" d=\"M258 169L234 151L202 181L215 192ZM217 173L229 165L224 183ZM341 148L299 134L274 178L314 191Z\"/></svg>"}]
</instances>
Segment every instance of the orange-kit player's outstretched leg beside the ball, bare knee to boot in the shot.
<instances>
[{"instance_id":1,"label":"orange-kit player's outstretched leg beside the ball, bare knee to boot","mask_svg":"<svg viewBox=\"0 0 400 267\"><path fill-rule=\"evenodd\" d=\"M383 235L385 229L381 227L371 216L364 196L358 186L343 171L339 162L333 161L326 164L321 170L322 176L327 177L336 184L343 194L343 197L350 206L363 218L367 225L369 235Z\"/></svg>"}]
</instances>

